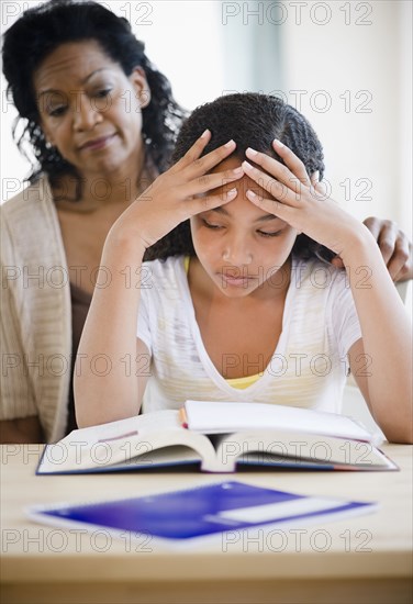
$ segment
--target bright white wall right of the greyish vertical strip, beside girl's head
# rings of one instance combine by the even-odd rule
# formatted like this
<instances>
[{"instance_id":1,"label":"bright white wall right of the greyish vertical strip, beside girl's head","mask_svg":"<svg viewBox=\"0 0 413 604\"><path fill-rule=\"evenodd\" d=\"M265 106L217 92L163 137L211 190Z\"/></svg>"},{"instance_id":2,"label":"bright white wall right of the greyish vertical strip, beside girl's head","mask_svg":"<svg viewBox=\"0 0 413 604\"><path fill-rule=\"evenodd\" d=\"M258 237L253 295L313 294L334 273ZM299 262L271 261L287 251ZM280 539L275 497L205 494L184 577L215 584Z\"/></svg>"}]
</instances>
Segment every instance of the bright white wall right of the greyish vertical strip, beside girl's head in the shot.
<instances>
[{"instance_id":1,"label":"bright white wall right of the greyish vertical strip, beside girl's head","mask_svg":"<svg viewBox=\"0 0 413 604\"><path fill-rule=\"evenodd\" d=\"M294 4L284 2L281 27L284 89L292 104L292 91L305 91L301 110L324 144L333 197L411 236L411 1L308 1L301 24Z\"/></svg>"}]
</instances>

